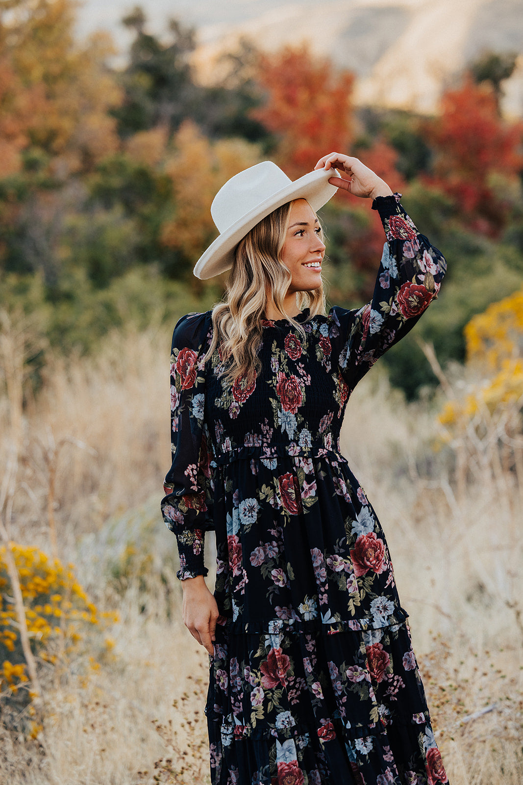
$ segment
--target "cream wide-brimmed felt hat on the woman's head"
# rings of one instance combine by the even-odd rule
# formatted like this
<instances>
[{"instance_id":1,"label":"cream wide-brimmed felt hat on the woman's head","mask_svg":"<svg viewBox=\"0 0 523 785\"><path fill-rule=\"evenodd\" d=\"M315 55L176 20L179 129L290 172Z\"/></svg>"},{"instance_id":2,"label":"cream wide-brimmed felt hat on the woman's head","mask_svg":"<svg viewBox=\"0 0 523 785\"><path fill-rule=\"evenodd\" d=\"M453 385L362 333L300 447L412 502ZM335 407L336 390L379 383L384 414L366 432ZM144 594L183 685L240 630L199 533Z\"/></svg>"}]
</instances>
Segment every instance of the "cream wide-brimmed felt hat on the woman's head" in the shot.
<instances>
[{"instance_id":1,"label":"cream wide-brimmed felt hat on the woman's head","mask_svg":"<svg viewBox=\"0 0 523 785\"><path fill-rule=\"evenodd\" d=\"M307 199L314 212L319 210L338 190L329 184L329 177L337 176L335 169L317 169L292 181L271 161L235 174L212 200L212 220L220 235L194 265L194 275L206 279L228 270L242 237L286 202Z\"/></svg>"}]
</instances>

